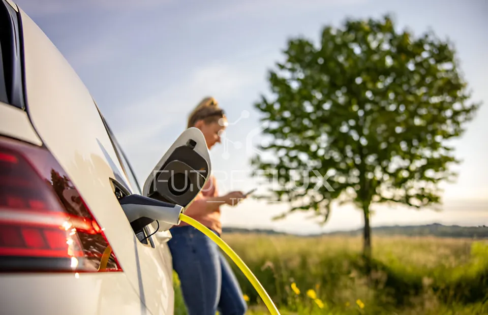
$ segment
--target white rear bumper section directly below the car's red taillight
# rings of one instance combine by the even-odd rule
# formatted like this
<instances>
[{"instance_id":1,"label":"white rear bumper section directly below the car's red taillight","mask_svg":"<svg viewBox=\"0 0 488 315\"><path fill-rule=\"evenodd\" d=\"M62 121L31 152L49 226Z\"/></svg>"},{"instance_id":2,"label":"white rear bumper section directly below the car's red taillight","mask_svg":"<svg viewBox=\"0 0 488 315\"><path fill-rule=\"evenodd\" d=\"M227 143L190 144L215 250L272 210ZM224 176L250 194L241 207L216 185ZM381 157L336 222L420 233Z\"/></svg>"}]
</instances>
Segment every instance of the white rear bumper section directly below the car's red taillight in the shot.
<instances>
[{"instance_id":1,"label":"white rear bumper section directly below the car's red taillight","mask_svg":"<svg viewBox=\"0 0 488 315\"><path fill-rule=\"evenodd\" d=\"M144 314L145 306L123 273L9 274L0 276L2 313Z\"/></svg>"}]
</instances>

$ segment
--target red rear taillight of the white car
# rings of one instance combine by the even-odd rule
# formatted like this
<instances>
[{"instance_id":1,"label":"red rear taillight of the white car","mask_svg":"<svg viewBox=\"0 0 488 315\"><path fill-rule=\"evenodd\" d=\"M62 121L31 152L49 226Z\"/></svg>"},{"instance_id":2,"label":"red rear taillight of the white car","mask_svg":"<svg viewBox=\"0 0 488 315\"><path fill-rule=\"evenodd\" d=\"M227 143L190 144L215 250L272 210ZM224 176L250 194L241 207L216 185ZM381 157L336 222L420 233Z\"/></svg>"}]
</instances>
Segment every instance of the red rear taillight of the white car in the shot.
<instances>
[{"instance_id":1,"label":"red rear taillight of the white car","mask_svg":"<svg viewBox=\"0 0 488 315\"><path fill-rule=\"evenodd\" d=\"M49 150L0 137L0 272L122 271L103 230Z\"/></svg>"}]
</instances>

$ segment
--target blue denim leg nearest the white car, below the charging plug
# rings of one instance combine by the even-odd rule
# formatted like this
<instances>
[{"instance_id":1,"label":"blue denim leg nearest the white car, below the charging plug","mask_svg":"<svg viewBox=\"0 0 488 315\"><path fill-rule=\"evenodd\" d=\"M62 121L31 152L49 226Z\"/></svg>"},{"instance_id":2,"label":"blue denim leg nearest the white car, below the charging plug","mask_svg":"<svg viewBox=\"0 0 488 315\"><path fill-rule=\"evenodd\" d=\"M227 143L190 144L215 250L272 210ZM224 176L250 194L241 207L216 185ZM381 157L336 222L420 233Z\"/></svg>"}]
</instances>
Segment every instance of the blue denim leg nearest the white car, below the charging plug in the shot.
<instances>
[{"instance_id":1,"label":"blue denim leg nearest the white car, below the charging plug","mask_svg":"<svg viewBox=\"0 0 488 315\"><path fill-rule=\"evenodd\" d=\"M222 283L217 245L193 227L174 230L168 246L188 313L215 315Z\"/></svg>"}]
</instances>

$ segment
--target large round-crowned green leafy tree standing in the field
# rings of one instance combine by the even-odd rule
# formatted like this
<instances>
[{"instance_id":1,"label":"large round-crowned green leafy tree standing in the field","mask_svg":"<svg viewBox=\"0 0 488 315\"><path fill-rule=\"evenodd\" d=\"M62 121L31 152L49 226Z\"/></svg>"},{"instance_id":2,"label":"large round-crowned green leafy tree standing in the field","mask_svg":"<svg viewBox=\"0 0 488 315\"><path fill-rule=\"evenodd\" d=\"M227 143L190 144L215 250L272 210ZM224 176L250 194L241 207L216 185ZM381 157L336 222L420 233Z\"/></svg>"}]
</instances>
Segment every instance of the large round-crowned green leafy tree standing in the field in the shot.
<instances>
[{"instance_id":1,"label":"large round-crowned green leafy tree standing in the field","mask_svg":"<svg viewBox=\"0 0 488 315\"><path fill-rule=\"evenodd\" d=\"M271 154L253 157L253 174L279 184L262 198L291 203L280 217L313 211L322 223L332 201L353 203L370 257L372 205L440 205L439 183L454 180L450 167L461 162L448 142L481 103L470 101L448 40L414 38L389 15L326 26L318 45L291 39L284 54L268 73L271 96L255 104L268 122L269 145L259 149ZM311 185L323 175L333 190Z\"/></svg>"}]
</instances>

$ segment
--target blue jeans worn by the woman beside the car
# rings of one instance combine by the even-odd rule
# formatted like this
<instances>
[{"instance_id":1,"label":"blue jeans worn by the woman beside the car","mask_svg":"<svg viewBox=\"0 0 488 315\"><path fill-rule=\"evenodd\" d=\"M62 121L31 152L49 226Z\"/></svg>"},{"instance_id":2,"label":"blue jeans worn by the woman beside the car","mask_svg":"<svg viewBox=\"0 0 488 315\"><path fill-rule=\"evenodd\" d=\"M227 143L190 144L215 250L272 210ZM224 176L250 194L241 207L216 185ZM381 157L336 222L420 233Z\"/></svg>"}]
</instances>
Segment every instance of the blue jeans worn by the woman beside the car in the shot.
<instances>
[{"instance_id":1,"label":"blue jeans worn by the woman beside the car","mask_svg":"<svg viewBox=\"0 0 488 315\"><path fill-rule=\"evenodd\" d=\"M247 304L219 247L194 227L172 228L168 246L189 315L242 315ZM217 234L217 233L216 233Z\"/></svg>"}]
</instances>

